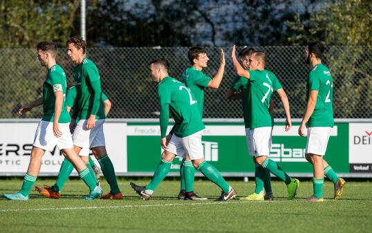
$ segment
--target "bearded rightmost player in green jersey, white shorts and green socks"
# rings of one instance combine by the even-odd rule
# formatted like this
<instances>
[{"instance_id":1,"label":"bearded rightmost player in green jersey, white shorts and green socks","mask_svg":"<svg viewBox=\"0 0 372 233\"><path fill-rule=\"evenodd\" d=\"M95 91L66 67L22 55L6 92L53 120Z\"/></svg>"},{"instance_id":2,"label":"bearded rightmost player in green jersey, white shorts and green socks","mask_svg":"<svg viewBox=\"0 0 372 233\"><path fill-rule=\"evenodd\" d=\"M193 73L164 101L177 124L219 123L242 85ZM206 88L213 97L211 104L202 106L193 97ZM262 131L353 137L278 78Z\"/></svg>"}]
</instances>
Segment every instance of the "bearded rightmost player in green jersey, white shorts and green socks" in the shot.
<instances>
[{"instance_id":1,"label":"bearded rightmost player in green jersey, white shorts and green socks","mask_svg":"<svg viewBox=\"0 0 372 233\"><path fill-rule=\"evenodd\" d=\"M335 187L335 199L340 198L345 180L339 178L332 167L323 159L329 136L333 128L333 80L331 72L322 64L324 46L320 41L312 41L306 46L305 61L312 70L306 84L306 111L299 126L299 135L305 137L304 129L308 127L308 142L305 157L313 165L314 194L305 201L322 202L324 174L332 180Z\"/></svg>"}]
</instances>

